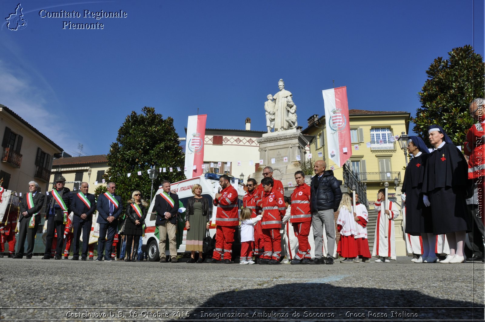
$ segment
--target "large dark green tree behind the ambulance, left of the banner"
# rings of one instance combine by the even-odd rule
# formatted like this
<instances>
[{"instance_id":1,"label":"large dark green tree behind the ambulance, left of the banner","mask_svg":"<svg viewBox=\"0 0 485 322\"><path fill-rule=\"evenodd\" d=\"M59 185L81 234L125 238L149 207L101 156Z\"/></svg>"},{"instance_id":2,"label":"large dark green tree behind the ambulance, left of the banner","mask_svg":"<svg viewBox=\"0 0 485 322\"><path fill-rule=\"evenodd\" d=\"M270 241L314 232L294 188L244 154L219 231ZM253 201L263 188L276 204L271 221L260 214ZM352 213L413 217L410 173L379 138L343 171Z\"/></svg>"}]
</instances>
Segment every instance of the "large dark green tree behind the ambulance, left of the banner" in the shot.
<instances>
[{"instance_id":1,"label":"large dark green tree behind the ambulance, left of the banner","mask_svg":"<svg viewBox=\"0 0 485 322\"><path fill-rule=\"evenodd\" d=\"M183 167L185 156L178 144L174 120L163 119L152 107L144 107L142 114L131 112L118 130L116 142L108 153L109 169L105 174L106 182L116 183L116 193L123 203L131 198L134 190L139 190L144 199L150 199L151 179L147 170L154 167L158 173L154 180L154 193L162 180L175 182L185 179ZM167 172L159 172L166 167ZM173 167L173 172L169 172ZM182 171L178 172L177 167ZM138 171L142 172L138 176ZM128 177L127 174L131 173Z\"/></svg>"}]
</instances>

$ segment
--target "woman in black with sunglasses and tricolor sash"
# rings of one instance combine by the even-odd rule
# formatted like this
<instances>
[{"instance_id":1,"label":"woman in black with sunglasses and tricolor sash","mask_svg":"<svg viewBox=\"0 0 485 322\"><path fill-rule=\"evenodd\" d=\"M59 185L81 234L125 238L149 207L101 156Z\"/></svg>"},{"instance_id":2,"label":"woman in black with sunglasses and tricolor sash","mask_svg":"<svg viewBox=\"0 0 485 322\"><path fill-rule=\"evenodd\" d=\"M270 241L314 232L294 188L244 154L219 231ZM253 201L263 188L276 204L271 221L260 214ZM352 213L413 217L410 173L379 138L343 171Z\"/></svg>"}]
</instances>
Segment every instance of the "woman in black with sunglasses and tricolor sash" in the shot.
<instances>
[{"instance_id":1,"label":"woman in black with sunglasses and tricolor sash","mask_svg":"<svg viewBox=\"0 0 485 322\"><path fill-rule=\"evenodd\" d=\"M138 245L140 237L145 229L146 211L148 210L148 203L142 199L142 193L138 190L131 193L131 199L128 200L126 206L126 257L125 261L136 261L138 253ZM133 245L132 245L133 244ZM131 248L133 246L133 251ZM131 253L131 256L130 256Z\"/></svg>"}]
</instances>

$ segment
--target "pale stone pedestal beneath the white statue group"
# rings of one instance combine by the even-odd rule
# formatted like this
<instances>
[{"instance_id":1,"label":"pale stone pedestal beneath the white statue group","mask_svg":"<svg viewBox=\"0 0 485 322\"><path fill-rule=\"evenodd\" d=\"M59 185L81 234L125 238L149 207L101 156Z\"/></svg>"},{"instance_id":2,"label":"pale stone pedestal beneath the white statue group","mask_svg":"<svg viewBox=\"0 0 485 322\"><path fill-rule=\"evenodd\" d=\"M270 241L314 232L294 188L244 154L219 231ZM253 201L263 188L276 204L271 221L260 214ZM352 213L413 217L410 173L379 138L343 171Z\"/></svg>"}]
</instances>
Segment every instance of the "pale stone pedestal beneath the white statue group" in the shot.
<instances>
[{"instance_id":1,"label":"pale stone pedestal beneath the white statue group","mask_svg":"<svg viewBox=\"0 0 485 322\"><path fill-rule=\"evenodd\" d=\"M308 145L307 139L298 129L288 129L285 131L276 131L265 133L257 140L259 144L259 159L263 164L259 164L259 169L253 174L256 181L261 182L263 178L263 169L266 166L273 168L273 178L280 180L285 188L285 195L290 194L293 188L288 189L288 182L295 182L295 172L301 170L300 162L296 160L299 155L300 159L305 160L305 146ZM287 161L285 162L285 158ZM275 163L272 163L274 159Z\"/></svg>"}]
</instances>

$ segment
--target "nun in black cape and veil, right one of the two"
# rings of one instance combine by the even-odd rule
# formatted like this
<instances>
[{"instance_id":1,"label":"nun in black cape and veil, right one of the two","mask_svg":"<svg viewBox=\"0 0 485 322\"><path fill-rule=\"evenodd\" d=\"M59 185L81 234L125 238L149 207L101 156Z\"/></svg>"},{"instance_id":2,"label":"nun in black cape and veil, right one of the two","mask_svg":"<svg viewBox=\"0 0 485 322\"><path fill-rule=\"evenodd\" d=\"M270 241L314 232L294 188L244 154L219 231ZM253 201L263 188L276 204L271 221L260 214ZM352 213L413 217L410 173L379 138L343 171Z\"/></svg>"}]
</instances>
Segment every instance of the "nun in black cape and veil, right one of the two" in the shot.
<instances>
[{"instance_id":1,"label":"nun in black cape and veil, right one of the two","mask_svg":"<svg viewBox=\"0 0 485 322\"><path fill-rule=\"evenodd\" d=\"M466 186L468 164L463 153L453 145L439 125L428 129L429 141L435 147L426 161L422 191L425 204L431 204L433 233L446 234L450 255L440 263L462 263L465 261L464 247L466 231L469 230L467 216Z\"/></svg>"}]
</instances>

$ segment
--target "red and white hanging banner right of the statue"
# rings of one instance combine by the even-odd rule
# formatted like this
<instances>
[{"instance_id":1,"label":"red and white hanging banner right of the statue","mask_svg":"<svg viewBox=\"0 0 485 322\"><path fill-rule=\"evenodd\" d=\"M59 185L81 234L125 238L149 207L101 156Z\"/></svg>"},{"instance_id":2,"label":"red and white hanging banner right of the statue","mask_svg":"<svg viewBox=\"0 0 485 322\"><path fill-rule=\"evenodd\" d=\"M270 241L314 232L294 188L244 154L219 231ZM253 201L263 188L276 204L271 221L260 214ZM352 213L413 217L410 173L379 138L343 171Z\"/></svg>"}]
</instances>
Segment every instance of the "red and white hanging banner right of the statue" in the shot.
<instances>
[{"instance_id":1,"label":"red and white hanging banner right of the statue","mask_svg":"<svg viewBox=\"0 0 485 322\"><path fill-rule=\"evenodd\" d=\"M322 91L328 155L339 167L352 155L347 86Z\"/></svg>"}]
</instances>

